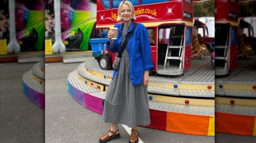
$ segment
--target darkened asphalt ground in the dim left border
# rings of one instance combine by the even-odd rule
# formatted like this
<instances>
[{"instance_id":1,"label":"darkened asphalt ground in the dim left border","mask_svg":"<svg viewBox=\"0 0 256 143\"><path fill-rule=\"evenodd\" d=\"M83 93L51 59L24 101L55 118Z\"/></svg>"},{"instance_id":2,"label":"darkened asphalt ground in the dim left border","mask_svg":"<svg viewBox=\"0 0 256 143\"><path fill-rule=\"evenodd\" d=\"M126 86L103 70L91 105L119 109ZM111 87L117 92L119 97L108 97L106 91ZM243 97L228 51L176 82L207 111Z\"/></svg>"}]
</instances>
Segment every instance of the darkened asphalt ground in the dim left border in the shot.
<instances>
[{"instance_id":1,"label":"darkened asphalt ground in the dim left border","mask_svg":"<svg viewBox=\"0 0 256 143\"><path fill-rule=\"evenodd\" d=\"M0 63L0 142L43 143L45 110L22 91L22 75L35 63Z\"/></svg>"}]
</instances>

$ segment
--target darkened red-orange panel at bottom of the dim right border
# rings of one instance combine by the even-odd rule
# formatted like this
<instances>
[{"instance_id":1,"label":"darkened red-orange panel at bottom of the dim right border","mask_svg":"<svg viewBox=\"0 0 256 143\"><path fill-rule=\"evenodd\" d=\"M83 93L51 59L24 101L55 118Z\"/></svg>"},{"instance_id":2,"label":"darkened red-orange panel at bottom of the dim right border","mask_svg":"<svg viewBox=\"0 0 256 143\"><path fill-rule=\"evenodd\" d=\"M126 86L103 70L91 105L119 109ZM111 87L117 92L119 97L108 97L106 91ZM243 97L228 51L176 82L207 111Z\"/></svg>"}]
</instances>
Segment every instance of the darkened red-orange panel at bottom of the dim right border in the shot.
<instances>
[{"instance_id":1,"label":"darkened red-orange panel at bottom of the dim right border","mask_svg":"<svg viewBox=\"0 0 256 143\"><path fill-rule=\"evenodd\" d=\"M215 112L215 131L253 135L254 120L255 116Z\"/></svg>"}]
</instances>

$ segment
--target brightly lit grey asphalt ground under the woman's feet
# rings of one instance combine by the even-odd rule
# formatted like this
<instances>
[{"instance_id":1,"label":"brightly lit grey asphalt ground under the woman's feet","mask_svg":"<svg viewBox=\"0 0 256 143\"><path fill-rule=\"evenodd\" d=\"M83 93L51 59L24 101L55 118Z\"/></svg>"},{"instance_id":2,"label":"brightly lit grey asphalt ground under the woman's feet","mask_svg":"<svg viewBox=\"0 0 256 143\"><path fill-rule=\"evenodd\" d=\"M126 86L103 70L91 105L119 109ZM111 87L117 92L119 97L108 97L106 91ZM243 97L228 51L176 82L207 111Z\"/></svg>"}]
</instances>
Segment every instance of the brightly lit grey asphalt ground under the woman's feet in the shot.
<instances>
[{"instance_id":1,"label":"brightly lit grey asphalt ground under the woman's feet","mask_svg":"<svg viewBox=\"0 0 256 143\"><path fill-rule=\"evenodd\" d=\"M45 65L45 142L98 143L99 137L110 129L102 115L80 103L67 91L67 77L81 63L46 63ZM118 125L120 138L110 143L128 143L131 129ZM127 132L127 131L128 132ZM214 136L172 133L138 127L139 143L214 143Z\"/></svg>"}]
</instances>

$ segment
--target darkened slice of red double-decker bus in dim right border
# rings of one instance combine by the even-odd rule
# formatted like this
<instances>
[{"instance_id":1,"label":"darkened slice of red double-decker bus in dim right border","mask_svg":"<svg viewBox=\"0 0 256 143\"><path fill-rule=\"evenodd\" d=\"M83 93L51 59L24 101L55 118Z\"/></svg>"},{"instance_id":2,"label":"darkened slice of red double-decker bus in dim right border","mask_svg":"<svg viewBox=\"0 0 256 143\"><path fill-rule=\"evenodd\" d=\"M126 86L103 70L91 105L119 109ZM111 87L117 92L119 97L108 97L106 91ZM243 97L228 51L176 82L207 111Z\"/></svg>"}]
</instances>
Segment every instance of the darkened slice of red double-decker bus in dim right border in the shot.
<instances>
[{"instance_id":1,"label":"darkened slice of red double-decker bus in dim right border","mask_svg":"<svg viewBox=\"0 0 256 143\"><path fill-rule=\"evenodd\" d=\"M215 64L220 63L217 66L226 74L236 67L238 17L238 0L215 0L215 60L219 60Z\"/></svg>"}]
</instances>

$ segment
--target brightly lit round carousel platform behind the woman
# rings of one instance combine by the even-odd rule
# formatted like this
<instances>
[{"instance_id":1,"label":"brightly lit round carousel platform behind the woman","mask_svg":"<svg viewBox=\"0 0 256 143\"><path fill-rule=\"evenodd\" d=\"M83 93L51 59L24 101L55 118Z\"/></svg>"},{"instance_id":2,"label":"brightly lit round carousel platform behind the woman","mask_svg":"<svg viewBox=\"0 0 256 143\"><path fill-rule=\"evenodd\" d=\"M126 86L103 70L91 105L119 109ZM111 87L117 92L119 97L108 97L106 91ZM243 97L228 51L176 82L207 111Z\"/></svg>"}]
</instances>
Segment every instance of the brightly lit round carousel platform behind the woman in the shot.
<instances>
[{"instance_id":1,"label":"brightly lit round carousel platform behind the woman","mask_svg":"<svg viewBox=\"0 0 256 143\"><path fill-rule=\"evenodd\" d=\"M208 57L205 56L205 59ZM214 69L210 57L207 61L209 65L200 62L205 60L193 59L192 66L198 68L191 68L184 76L150 76L148 100L151 124L145 127L214 136ZM102 114L112 74L113 70L101 70L97 60L90 58L70 72L67 89L78 103Z\"/></svg>"}]
</instances>

